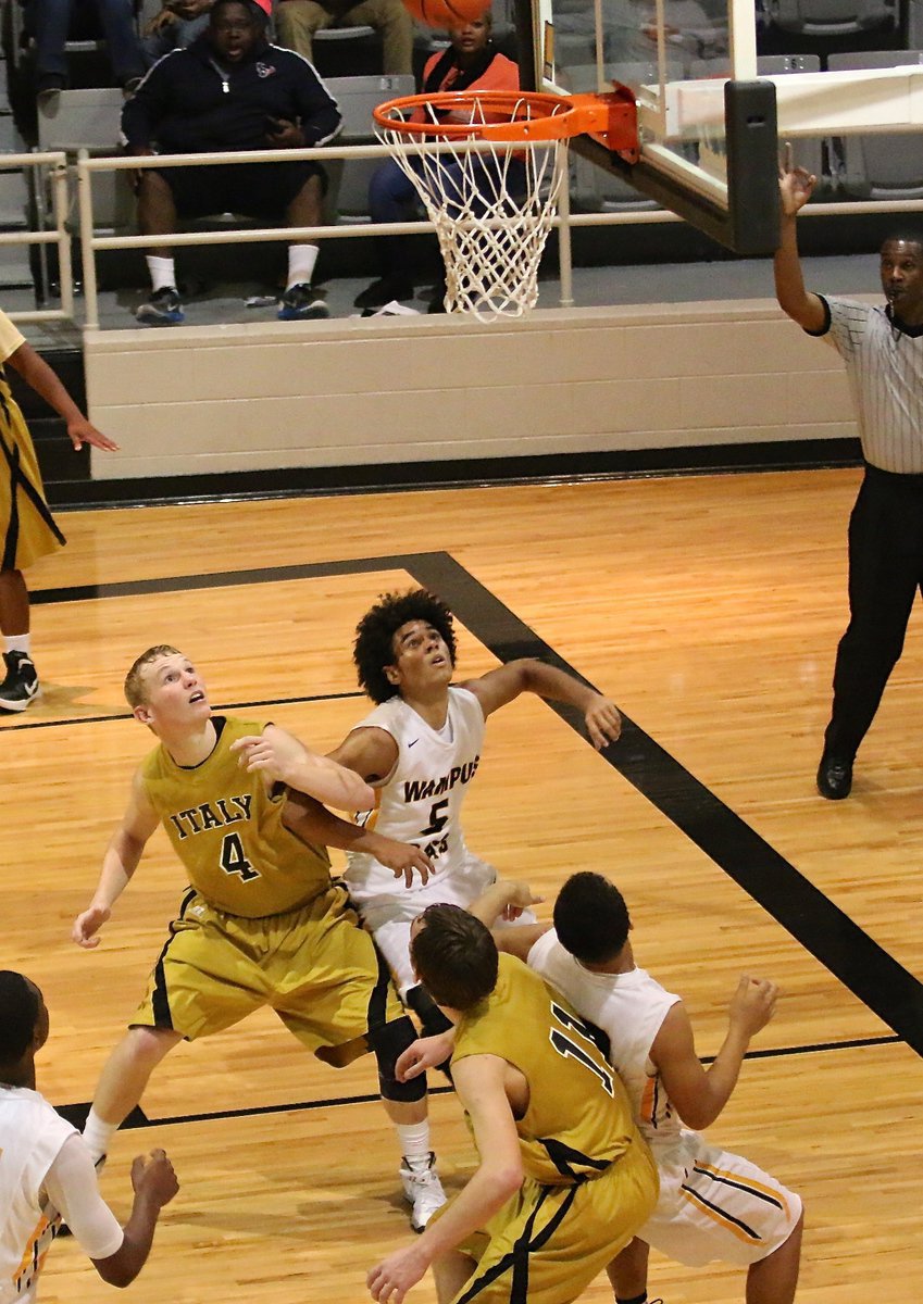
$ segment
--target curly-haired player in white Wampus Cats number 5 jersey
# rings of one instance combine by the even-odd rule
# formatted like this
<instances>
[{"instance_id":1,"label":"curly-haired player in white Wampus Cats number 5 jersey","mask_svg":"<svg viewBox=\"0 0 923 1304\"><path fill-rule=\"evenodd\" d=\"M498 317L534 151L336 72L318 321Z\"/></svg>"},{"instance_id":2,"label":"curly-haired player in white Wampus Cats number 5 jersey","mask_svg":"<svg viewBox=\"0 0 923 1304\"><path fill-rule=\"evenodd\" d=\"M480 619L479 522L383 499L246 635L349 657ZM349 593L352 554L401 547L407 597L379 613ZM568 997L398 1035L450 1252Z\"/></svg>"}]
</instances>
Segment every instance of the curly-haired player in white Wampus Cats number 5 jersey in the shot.
<instances>
[{"instance_id":1,"label":"curly-haired player in white Wampus Cats number 5 jersey","mask_svg":"<svg viewBox=\"0 0 923 1304\"><path fill-rule=\"evenodd\" d=\"M622 721L614 704L554 666L510 661L452 686L452 614L425 589L387 593L360 621L353 660L375 709L331 752L375 790L375 807L359 822L418 846L432 861L425 884L395 884L370 855L348 854L347 887L391 966L402 999L426 1031L446 1026L416 985L409 960L411 923L432 902L468 906L493 883L494 870L468 852L460 824L464 795L477 772L489 715L521 692L580 709L597 748L614 742ZM422 1230L445 1196L435 1176L426 1101L407 1106L400 1133L402 1178Z\"/></svg>"}]
</instances>

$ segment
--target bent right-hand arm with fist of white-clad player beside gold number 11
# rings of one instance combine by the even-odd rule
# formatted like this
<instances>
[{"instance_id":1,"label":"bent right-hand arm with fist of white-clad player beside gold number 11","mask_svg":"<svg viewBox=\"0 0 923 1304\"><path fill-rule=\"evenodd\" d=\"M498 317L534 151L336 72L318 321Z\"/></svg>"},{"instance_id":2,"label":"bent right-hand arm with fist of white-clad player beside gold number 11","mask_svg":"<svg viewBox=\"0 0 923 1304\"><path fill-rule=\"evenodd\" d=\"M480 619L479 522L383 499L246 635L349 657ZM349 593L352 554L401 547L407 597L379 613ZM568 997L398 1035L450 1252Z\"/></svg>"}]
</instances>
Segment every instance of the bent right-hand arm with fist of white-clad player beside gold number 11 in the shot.
<instances>
[{"instance_id":1,"label":"bent right-hand arm with fist of white-clad player beside gold number 11","mask_svg":"<svg viewBox=\"0 0 923 1304\"><path fill-rule=\"evenodd\" d=\"M740 978L727 1015L727 1035L708 1069L695 1052L686 1007L679 1001L670 1009L651 1047L651 1059L681 1119L691 1128L711 1127L724 1110L751 1039L774 1013L777 995L776 983L765 978Z\"/></svg>"}]
</instances>

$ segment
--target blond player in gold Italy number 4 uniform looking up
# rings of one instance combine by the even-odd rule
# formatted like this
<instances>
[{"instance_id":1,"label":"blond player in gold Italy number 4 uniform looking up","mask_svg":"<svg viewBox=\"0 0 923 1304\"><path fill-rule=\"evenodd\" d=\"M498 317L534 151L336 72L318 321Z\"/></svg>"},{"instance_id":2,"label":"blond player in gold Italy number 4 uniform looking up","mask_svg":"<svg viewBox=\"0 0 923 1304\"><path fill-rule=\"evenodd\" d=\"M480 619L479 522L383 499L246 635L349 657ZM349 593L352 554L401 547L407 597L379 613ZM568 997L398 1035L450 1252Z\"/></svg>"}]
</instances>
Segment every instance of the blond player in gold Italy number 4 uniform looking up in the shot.
<instances>
[{"instance_id":1,"label":"blond player in gold Italy number 4 uniform looking up","mask_svg":"<svg viewBox=\"0 0 923 1304\"><path fill-rule=\"evenodd\" d=\"M73 939L98 945L158 824L190 887L147 992L103 1068L83 1133L91 1153L104 1154L151 1072L180 1041L220 1031L262 1005L329 1063L374 1050L386 1110L403 1123L425 1090L415 1084L409 1091L394 1073L413 1025L345 892L331 883L327 845L372 837L374 854L405 878L413 870L425 875L426 858L321 807L321 801L360 807L372 794L356 775L275 725L212 715L205 683L176 648L138 657L125 695L159 743L136 773ZM272 765L254 735L272 742Z\"/></svg>"}]
</instances>

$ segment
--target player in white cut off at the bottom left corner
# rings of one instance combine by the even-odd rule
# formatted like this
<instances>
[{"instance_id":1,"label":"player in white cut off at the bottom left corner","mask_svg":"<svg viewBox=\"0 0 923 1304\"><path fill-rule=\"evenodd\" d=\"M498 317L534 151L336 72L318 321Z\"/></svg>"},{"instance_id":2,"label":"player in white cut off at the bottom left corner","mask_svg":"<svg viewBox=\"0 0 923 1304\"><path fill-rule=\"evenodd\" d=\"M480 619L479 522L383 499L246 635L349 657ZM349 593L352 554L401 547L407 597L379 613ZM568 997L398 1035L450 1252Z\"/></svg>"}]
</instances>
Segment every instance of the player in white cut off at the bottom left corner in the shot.
<instances>
[{"instance_id":1,"label":"player in white cut off at the bottom left corner","mask_svg":"<svg viewBox=\"0 0 923 1304\"><path fill-rule=\"evenodd\" d=\"M0 1304L31 1304L61 1218L111 1286L128 1286L150 1253L160 1209L179 1187L163 1150L132 1167L134 1208L120 1227L99 1194L77 1129L35 1090L48 1011L35 983L0 970Z\"/></svg>"}]
</instances>

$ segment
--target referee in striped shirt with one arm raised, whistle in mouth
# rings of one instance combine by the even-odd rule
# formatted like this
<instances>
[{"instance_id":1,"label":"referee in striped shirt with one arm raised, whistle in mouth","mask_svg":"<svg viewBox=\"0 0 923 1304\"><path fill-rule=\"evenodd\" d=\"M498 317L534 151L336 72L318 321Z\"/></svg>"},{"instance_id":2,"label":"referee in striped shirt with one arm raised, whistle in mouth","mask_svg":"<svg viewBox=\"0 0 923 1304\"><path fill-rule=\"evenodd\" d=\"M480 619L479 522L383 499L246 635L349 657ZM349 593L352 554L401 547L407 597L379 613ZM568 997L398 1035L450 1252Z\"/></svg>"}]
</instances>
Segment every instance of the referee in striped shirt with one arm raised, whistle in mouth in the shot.
<instances>
[{"instance_id":1,"label":"referee in striped shirt with one arm raised, whistle in mouth","mask_svg":"<svg viewBox=\"0 0 923 1304\"><path fill-rule=\"evenodd\" d=\"M897 233L881 245L885 306L808 293L795 219L815 181L786 156L776 296L808 335L823 335L843 359L866 463L849 526L850 621L837 649L817 769L821 797L840 801L850 794L855 754L923 584L923 235Z\"/></svg>"}]
</instances>

